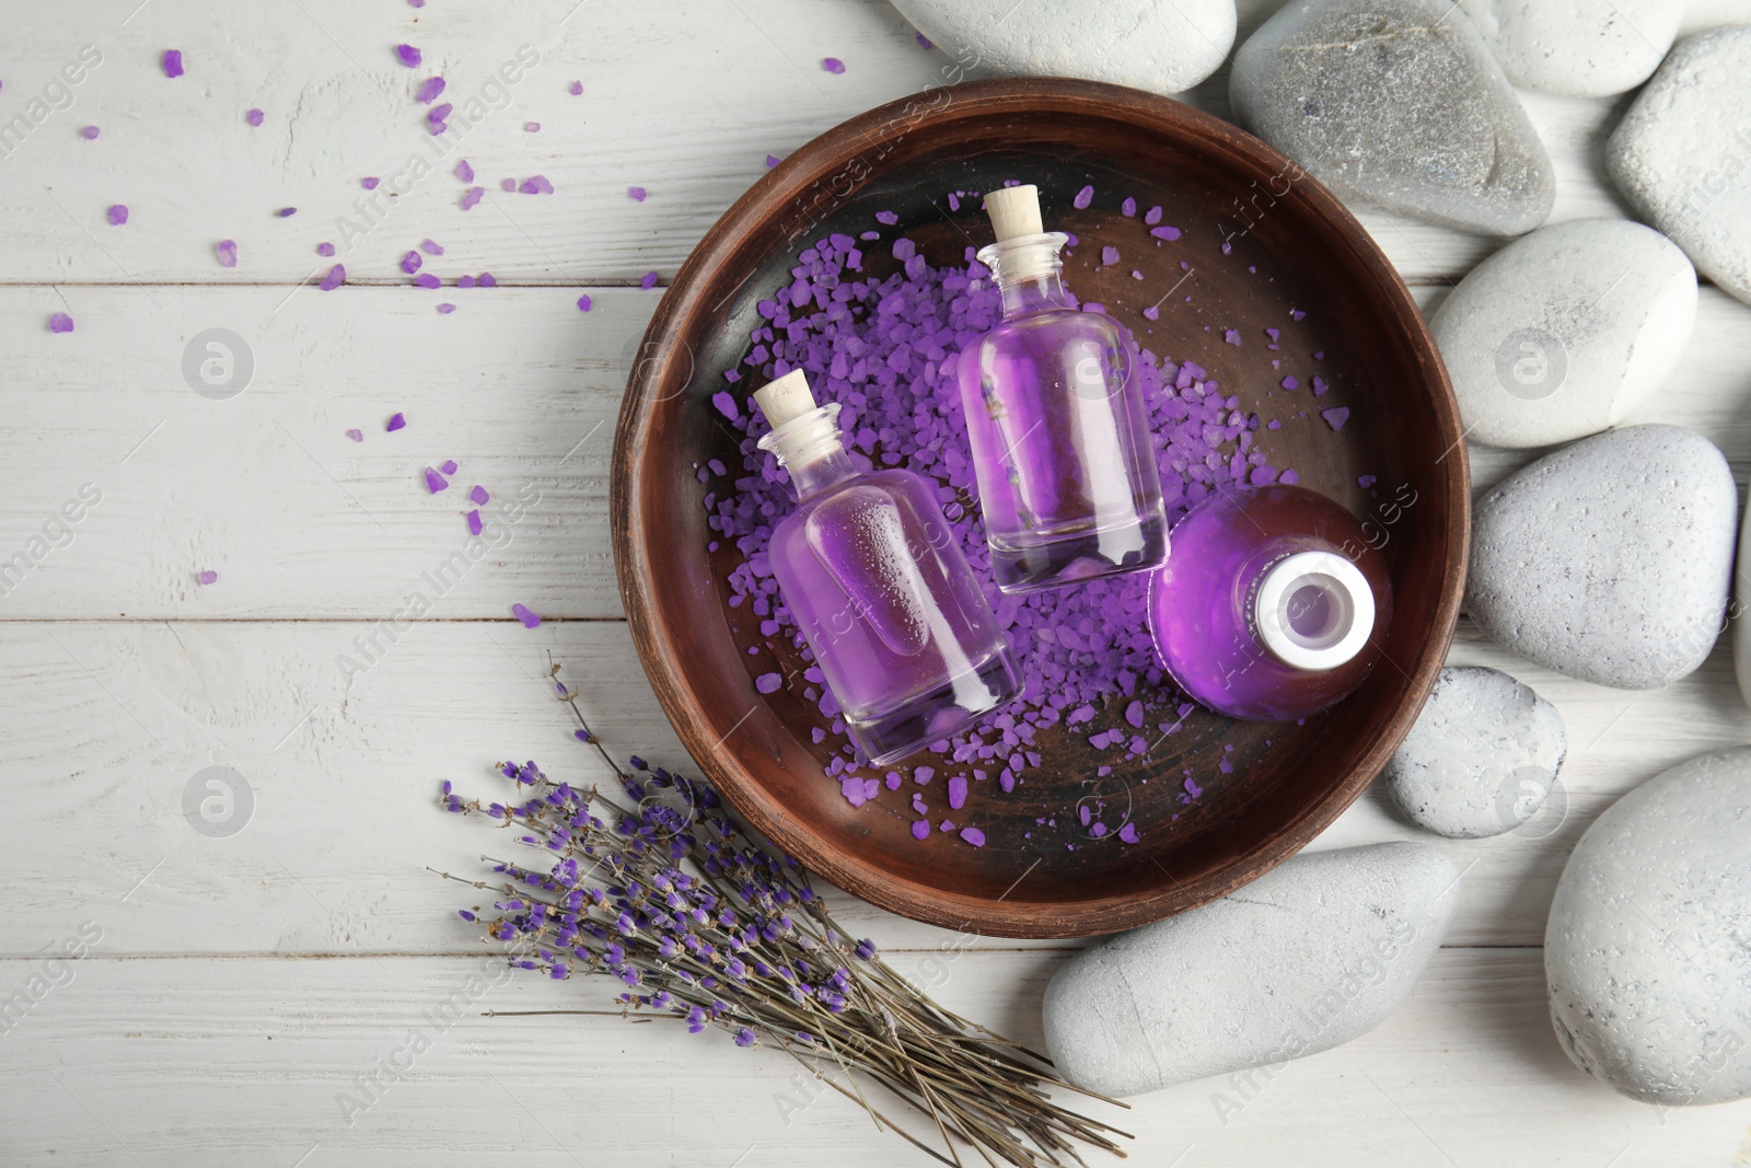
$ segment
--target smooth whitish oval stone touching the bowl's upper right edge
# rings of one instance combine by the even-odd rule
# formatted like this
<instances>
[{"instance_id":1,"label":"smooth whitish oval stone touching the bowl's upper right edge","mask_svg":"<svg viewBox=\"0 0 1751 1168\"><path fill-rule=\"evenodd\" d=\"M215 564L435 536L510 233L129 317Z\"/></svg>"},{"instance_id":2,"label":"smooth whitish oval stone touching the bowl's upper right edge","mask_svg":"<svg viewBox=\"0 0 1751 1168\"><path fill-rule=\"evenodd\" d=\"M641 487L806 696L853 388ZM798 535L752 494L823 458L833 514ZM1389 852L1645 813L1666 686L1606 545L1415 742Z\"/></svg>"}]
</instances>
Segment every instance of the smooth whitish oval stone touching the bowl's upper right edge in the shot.
<instances>
[{"instance_id":1,"label":"smooth whitish oval stone touching the bowl's upper right edge","mask_svg":"<svg viewBox=\"0 0 1751 1168\"><path fill-rule=\"evenodd\" d=\"M1672 240L1627 219L1574 219L1473 268L1429 327L1467 438L1550 447L1648 401L1695 324L1697 271Z\"/></svg>"}]
</instances>

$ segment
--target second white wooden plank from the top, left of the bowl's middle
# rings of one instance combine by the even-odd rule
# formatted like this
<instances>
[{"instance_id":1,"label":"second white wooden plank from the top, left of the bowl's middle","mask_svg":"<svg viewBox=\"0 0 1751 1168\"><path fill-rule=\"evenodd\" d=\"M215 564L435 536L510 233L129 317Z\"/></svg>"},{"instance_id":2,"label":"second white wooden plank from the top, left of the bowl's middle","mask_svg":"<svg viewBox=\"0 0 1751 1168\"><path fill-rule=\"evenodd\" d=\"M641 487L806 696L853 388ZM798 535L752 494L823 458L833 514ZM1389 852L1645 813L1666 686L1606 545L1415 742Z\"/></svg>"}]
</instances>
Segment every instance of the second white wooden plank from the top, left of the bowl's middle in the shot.
<instances>
[{"instance_id":1,"label":"second white wooden plank from the top, left of the bowl's middle","mask_svg":"<svg viewBox=\"0 0 1751 1168\"><path fill-rule=\"evenodd\" d=\"M1418 294L1432 306L1443 291ZM280 306L285 291L268 287L0 287L12 480L0 560L40 553L0 578L0 616L380 620L468 539L462 496L476 482L501 503L527 485L539 503L445 595L441 616L503 616L518 601L620 616L608 462L655 292L597 289L580 313L573 289L450 289L448 317L436 296L303 289ZM42 319L63 303L77 327L51 334ZM254 354L229 401L184 378L184 350L214 326ZM1684 362L1630 420L1698 429L1744 480L1747 348L1751 308L1704 289ZM383 433L397 410L408 429ZM431 496L422 468L447 457L462 464L457 489ZM1473 445L1476 489L1532 457ZM102 503L72 539L51 531L33 546L86 483ZM198 587L203 569L219 583Z\"/></svg>"}]
</instances>

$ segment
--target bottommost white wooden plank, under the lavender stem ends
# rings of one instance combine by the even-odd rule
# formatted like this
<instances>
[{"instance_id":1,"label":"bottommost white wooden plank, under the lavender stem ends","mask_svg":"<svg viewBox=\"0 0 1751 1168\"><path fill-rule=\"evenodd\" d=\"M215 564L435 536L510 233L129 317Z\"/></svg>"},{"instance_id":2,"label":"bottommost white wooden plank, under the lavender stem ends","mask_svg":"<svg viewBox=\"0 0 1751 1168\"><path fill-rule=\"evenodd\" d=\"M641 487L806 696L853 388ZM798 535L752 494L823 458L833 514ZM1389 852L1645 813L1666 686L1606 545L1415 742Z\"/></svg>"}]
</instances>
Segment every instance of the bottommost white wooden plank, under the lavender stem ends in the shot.
<instances>
[{"instance_id":1,"label":"bottommost white wooden plank, under the lavender stem ends","mask_svg":"<svg viewBox=\"0 0 1751 1168\"><path fill-rule=\"evenodd\" d=\"M77 923L70 916L42 940L60 944ZM609 993L599 984L518 975L469 1002L468 977L485 958L102 953L72 965L72 981L5 1035L7 1163L930 1163L874 1131L847 1100L811 1101L795 1065L772 1051L669 1023L483 1016L601 1009ZM905 954L895 965L935 984L951 1009L1038 1042L1040 993L1065 956ZM40 965L4 961L0 984L21 986ZM457 991L462 1016L429 1021ZM429 1049L408 1065L399 1052L413 1035ZM357 1077L390 1061L404 1073L383 1077L375 1100L359 1094L364 1110L343 1110ZM1446 949L1380 1028L1250 1084L1208 1079L1142 1096L1128 1112L1094 1107L1135 1133L1133 1163L1180 1168L1285 1163L1285 1149L1304 1168L1726 1164L1751 1121L1751 1103L1658 1110L1576 1070L1557 1047L1541 958L1529 949Z\"/></svg>"}]
</instances>

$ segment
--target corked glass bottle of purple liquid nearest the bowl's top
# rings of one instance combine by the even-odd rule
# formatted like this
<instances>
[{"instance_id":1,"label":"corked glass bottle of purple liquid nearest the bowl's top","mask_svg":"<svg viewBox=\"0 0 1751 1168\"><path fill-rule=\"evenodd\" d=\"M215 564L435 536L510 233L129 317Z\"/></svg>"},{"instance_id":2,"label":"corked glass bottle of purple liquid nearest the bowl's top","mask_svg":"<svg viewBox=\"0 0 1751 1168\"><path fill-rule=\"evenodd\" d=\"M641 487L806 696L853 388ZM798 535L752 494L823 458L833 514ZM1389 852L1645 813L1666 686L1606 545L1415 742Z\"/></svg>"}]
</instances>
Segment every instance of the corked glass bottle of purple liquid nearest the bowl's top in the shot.
<instances>
[{"instance_id":1,"label":"corked glass bottle of purple liquid nearest the bowl's top","mask_svg":"<svg viewBox=\"0 0 1751 1168\"><path fill-rule=\"evenodd\" d=\"M961 350L958 376L996 585L1037 592L1156 567L1168 522L1136 350L1108 317L1070 306L1068 236L1040 231L1035 187L991 191L986 212L996 243L979 261L1003 322Z\"/></svg>"}]
</instances>

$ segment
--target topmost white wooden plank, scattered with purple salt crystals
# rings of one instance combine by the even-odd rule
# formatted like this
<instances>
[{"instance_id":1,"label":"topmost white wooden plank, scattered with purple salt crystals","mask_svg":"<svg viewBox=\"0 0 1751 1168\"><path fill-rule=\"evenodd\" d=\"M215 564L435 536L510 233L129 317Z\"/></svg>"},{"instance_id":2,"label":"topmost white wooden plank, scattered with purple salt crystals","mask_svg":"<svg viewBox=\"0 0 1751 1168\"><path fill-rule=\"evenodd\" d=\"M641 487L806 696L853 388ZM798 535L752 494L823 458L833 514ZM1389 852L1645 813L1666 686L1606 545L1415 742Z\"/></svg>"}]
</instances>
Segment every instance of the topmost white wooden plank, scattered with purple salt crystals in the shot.
<instances>
[{"instance_id":1,"label":"topmost white wooden plank, scattered with purple salt crystals","mask_svg":"<svg viewBox=\"0 0 1751 1168\"><path fill-rule=\"evenodd\" d=\"M0 249L9 282L273 282L326 270L313 249L340 245L366 175L394 177L431 135L418 82L450 79L441 100L478 95L520 46L539 61L510 102L483 117L429 177L383 200L341 259L357 280L403 282L399 256L432 236L450 250L445 275L494 271L510 282L630 282L674 273L706 228L762 173L816 133L883 102L939 84L954 61L925 51L886 4L830 0L702 0L665 5L541 0L504 12L480 7L406 9L312 0L294 11L154 0L123 23L133 0L93 19L81 5L33 12L5 58L0 124L30 114L79 47L102 65L68 88L72 105L7 138L0 165ZM1276 0L1243 4L1241 35ZM1742 0L1707 5L1693 26L1751 19ZM408 70L392 46L417 44ZM180 46L187 74L170 81L161 53ZM842 75L821 70L846 61ZM975 74L977 75L977 74ZM567 86L585 82L581 96ZM56 91L51 96L58 96ZM1227 114L1227 70L1184 98ZM1525 93L1551 151L1553 221L1621 214L1604 177L1599 140L1621 102ZM65 98L60 98L65 102ZM261 128L243 112L264 110ZM538 121L539 133L525 133ZM77 130L102 128L88 142ZM4 145L4 144L0 144ZM466 186L450 170L468 158L487 201L459 208ZM497 180L546 175L552 196L504 194ZM644 186L644 203L627 198ZM380 187L378 193L387 187ZM375 198L375 196L373 196ZM131 219L112 228L110 203ZM291 219L273 215L296 207ZM390 208L392 210L387 210ZM1359 208L1387 254L1411 278L1466 271L1497 242ZM214 259L221 238L240 263ZM320 264L320 268L319 268Z\"/></svg>"}]
</instances>

